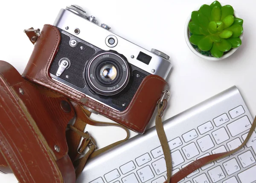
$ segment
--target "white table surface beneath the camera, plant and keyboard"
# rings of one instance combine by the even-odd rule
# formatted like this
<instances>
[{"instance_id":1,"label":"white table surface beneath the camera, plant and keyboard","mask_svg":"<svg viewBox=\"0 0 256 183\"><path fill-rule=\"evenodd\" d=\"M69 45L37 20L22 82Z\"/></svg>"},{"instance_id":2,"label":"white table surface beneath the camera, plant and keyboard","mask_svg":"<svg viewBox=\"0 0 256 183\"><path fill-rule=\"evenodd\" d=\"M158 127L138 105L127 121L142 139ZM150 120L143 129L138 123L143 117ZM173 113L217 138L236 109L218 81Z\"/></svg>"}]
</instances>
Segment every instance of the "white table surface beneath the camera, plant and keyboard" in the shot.
<instances>
[{"instance_id":1,"label":"white table surface beneath the camera, plant and keyboard","mask_svg":"<svg viewBox=\"0 0 256 183\"><path fill-rule=\"evenodd\" d=\"M211 96L236 85L251 114L256 114L256 14L254 0L222 0L230 4L244 19L241 47L222 61L206 61L196 56L186 45L184 25L189 14L208 0L44 0L1 2L0 60L23 72L33 45L23 29L42 28L54 22L61 8L78 4L94 15L111 31L150 50L159 49L170 56L172 72L167 79L172 93L163 119L168 119ZM86 41L86 40L85 40ZM124 48L125 49L125 48ZM93 119L105 120L93 115ZM109 121L109 120L108 120ZM149 125L153 126L154 120ZM104 147L125 137L121 129L87 127ZM131 132L131 137L136 133ZM109 138L104 138L108 136ZM1 183L17 183L14 175L0 174Z\"/></svg>"}]
</instances>

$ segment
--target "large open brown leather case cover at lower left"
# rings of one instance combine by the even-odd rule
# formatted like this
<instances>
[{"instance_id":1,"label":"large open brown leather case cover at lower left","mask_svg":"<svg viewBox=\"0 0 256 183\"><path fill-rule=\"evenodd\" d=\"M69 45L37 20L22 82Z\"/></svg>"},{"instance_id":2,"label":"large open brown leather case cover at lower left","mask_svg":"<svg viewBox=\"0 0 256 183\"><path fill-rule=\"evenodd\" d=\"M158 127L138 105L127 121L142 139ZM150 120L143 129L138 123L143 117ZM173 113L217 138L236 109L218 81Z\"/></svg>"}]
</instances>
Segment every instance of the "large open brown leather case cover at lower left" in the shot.
<instances>
[{"instance_id":1,"label":"large open brown leather case cover at lower left","mask_svg":"<svg viewBox=\"0 0 256 183\"><path fill-rule=\"evenodd\" d=\"M0 61L0 165L7 163L20 183L75 183L65 138L75 114L72 107L63 110L61 101L70 105L64 97L45 96Z\"/></svg>"}]
</instances>

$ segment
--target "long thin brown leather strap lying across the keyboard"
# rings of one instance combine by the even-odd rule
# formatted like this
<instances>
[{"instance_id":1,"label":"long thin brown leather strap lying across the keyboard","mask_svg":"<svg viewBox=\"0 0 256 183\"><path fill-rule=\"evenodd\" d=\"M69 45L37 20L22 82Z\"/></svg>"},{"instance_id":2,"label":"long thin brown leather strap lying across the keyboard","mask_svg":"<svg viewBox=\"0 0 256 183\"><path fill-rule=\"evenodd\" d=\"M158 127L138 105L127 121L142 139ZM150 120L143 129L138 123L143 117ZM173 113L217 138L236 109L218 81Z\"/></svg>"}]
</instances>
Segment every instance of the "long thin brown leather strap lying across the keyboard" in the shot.
<instances>
[{"instance_id":1,"label":"long thin brown leather strap lying across the keyboard","mask_svg":"<svg viewBox=\"0 0 256 183\"><path fill-rule=\"evenodd\" d=\"M218 153L218 154L212 154L207 157L203 157L199 160L195 160L194 162L190 163L188 166L182 168L180 171L175 173L174 175L171 176L172 173L172 158L171 158L171 153L170 153L170 148L168 144L168 140L163 128L163 123L162 123L162 116L163 116L163 111L165 110L167 105L167 100L164 99L163 102L161 103L160 101L158 102L157 105L157 116L156 116L156 129L157 129L157 135L159 137L161 146L163 148L163 154L166 160L166 168L167 168L167 180L164 183L177 183L183 178L185 178L187 175L191 174L193 171L197 170L198 168L211 163L215 160L221 159L223 157L229 156L230 154L234 154L236 151L241 149L247 141L250 139L251 135L253 134L253 131L256 128L256 117L253 121L253 124L250 128L249 134L247 135L246 139L244 142L236 149L232 151L227 151L223 153Z\"/></svg>"}]
</instances>

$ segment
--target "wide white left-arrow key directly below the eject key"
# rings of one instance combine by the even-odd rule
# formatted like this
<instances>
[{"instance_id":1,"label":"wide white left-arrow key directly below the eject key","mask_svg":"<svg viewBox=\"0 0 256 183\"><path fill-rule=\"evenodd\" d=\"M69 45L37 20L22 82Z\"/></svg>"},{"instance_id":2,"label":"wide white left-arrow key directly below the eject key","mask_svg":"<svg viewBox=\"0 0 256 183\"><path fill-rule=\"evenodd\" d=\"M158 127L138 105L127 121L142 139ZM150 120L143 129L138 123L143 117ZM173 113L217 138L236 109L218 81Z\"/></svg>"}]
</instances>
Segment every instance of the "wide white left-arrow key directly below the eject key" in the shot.
<instances>
[{"instance_id":1,"label":"wide white left-arrow key directly below the eject key","mask_svg":"<svg viewBox=\"0 0 256 183\"><path fill-rule=\"evenodd\" d=\"M250 121L247 116L241 117L236 121L227 125L227 128L230 131L232 137L235 137L238 134L241 134L244 131L247 131L251 128Z\"/></svg>"}]
</instances>

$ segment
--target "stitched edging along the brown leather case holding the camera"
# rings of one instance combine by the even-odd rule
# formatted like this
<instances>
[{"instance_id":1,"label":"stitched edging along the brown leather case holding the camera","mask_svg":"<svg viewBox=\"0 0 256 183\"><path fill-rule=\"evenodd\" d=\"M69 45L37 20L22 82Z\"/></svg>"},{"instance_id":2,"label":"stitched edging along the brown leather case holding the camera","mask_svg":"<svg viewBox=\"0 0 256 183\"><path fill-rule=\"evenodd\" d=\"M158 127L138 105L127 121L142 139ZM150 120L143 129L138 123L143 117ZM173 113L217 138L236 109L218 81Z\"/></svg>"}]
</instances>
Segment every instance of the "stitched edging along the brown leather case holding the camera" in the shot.
<instances>
[{"instance_id":1,"label":"stitched edging along the brown leather case holding the camera","mask_svg":"<svg viewBox=\"0 0 256 183\"><path fill-rule=\"evenodd\" d=\"M47 26L48 26L48 25L47 25ZM57 46L58 40L59 40L59 36L58 36L57 31L56 31L52 26L48 26L48 27L51 28L51 29L53 29L53 30L55 31L55 33L56 33L56 36L57 36L56 42L55 42L55 46L54 46L54 48L52 49L52 54L51 54L51 56L49 57L49 59L48 59L48 61L47 61L47 67L46 67L46 70L45 70L45 76L46 76L47 81L48 81L49 83L46 83L46 82L43 81L43 80L38 80L38 79L36 79L36 78L29 77L29 76L27 76L27 75L26 75L26 77L28 77L28 78L30 78L30 79L32 79L32 80L34 80L34 81L38 81L38 82L44 83L44 84L46 84L46 85L48 85L48 86L51 86L51 87L58 87L58 90L60 90L60 91L62 91L62 92L64 92L64 93L67 92L67 91L72 92L72 91L73 91L72 89L70 89L70 88L68 88L68 87L67 87L67 88L62 87L62 84L60 84L60 83L58 83L58 82L53 82L53 81L49 78L49 76L48 76L48 73L47 73L47 72L48 72L48 70L49 70L49 65L50 65L50 63L51 63L52 57L53 57L53 55L54 55L54 52L55 52L55 49L56 49L56 46ZM158 80L160 80L160 81L164 81L163 79L160 79L160 78L157 78L157 77L152 77L152 78L156 78L156 79L158 79ZM133 103L131 104L131 107L134 105L134 102L136 101L138 95L140 94L140 92L141 92L143 86L145 85L145 83L146 83L147 81L149 81L149 79L151 79L151 78L148 78L148 79L143 83L142 87L140 87L140 91L139 91L139 93L137 94L136 98L134 99ZM165 82L165 81L164 81L164 82ZM56 86L56 85L57 85L57 86ZM79 94L79 93L76 93L75 95L72 95L72 96L71 96L70 94L68 94L68 93L65 93L65 95L69 96L70 98L75 98L76 100L79 100L81 97L83 97L83 95L81 95L81 94ZM79 96L80 98L78 98L77 96ZM84 96L86 96L86 95L84 95ZM126 124L128 123L128 124L130 124L131 126L135 126L135 127L138 128L140 131L142 130L142 128L139 128L137 125L134 125L133 123L131 123L131 122L129 122L129 121L127 121L127 120L125 120L125 119L123 119L123 118L121 118L121 117L118 117L118 116L112 114L112 113L114 113L114 114L126 114L126 113L129 112L130 108L129 108L128 110L125 110L124 112L120 112L120 113L117 113L117 112L115 112L115 111L105 112L105 110L102 110L102 109L100 109L100 108L106 108L106 110L108 110L108 108L107 108L106 106L104 106L104 105L101 106L101 105L98 104L98 102L95 102L95 101L93 101L93 100L90 100L90 102L93 103L94 105L98 106L98 107L96 108L96 110L102 112L103 114L108 114L109 116L111 116L111 117L113 117L113 118L122 120L122 122L125 122ZM93 107L93 108L95 108L95 106L90 105L90 103L87 103L87 105L88 105L88 107Z\"/></svg>"}]
</instances>

